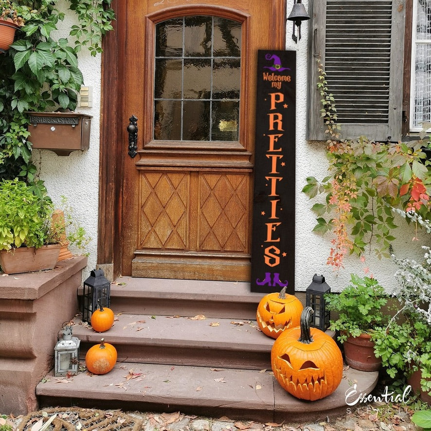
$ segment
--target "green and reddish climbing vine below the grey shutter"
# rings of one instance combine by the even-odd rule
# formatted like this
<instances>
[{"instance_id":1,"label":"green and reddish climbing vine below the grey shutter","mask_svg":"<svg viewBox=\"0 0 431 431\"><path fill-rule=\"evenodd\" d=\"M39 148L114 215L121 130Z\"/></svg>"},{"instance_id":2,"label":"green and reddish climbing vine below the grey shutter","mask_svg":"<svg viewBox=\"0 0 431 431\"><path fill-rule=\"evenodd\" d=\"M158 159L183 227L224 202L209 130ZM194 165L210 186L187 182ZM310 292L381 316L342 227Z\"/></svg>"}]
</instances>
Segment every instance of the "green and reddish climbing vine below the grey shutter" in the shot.
<instances>
[{"instance_id":1,"label":"green and reddish climbing vine below the grey shutter","mask_svg":"<svg viewBox=\"0 0 431 431\"><path fill-rule=\"evenodd\" d=\"M303 188L310 198L324 197L312 206L318 216L314 232L332 234L327 264L334 268L343 266L346 254L363 256L373 246L379 258L389 257L397 227L392 207L430 219L431 162L421 149L424 135L409 143L342 139L320 59L318 66L329 175L321 181L310 176Z\"/></svg>"}]
</instances>

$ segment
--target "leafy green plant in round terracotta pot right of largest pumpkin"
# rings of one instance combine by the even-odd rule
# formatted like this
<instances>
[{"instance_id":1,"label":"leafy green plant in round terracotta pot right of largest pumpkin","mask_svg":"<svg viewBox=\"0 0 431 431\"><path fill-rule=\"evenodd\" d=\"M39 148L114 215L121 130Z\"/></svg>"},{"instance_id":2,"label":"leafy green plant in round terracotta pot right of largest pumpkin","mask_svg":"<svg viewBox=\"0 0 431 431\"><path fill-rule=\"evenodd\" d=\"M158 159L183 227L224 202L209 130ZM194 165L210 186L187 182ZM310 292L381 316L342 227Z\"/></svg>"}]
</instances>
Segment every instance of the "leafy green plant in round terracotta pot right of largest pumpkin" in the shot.
<instances>
[{"instance_id":1,"label":"leafy green plant in round terracotta pot right of largest pumpkin","mask_svg":"<svg viewBox=\"0 0 431 431\"><path fill-rule=\"evenodd\" d=\"M383 311L388 302L383 287L374 278L351 274L349 286L339 294L326 294L325 300L329 310L338 312L330 329L340 334L347 364L356 370L377 371L381 359L374 355L371 334L388 321Z\"/></svg>"}]
</instances>

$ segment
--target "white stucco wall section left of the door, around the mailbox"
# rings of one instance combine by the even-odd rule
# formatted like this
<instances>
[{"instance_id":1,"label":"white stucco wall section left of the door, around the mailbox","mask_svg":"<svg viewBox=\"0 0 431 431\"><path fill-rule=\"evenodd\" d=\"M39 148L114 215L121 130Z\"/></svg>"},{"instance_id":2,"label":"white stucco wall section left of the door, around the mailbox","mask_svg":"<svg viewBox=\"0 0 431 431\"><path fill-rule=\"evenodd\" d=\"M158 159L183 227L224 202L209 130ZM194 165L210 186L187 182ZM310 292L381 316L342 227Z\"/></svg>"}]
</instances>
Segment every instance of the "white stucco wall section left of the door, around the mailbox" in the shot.
<instances>
[{"instance_id":1,"label":"white stucco wall section left of the door, around the mailbox","mask_svg":"<svg viewBox=\"0 0 431 431\"><path fill-rule=\"evenodd\" d=\"M54 37L70 39L70 26L76 23L68 3L58 3L66 18L58 24ZM91 237L86 251L90 253L88 271L83 271L84 279L97 262L97 219L99 192L99 130L100 130L100 97L101 97L101 54L90 55L87 49L78 54L79 69L84 76L84 86L93 88L93 105L91 108L77 108L77 112L92 115L90 130L90 148L85 151L72 151L69 156L57 156L53 151L37 150L32 152L32 160L39 171L40 179L45 181L49 196L54 204L59 204L61 196L68 199L72 215L77 225L82 226ZM77 249L70 247L78 253Z\"/></svg>"}]
</instances>

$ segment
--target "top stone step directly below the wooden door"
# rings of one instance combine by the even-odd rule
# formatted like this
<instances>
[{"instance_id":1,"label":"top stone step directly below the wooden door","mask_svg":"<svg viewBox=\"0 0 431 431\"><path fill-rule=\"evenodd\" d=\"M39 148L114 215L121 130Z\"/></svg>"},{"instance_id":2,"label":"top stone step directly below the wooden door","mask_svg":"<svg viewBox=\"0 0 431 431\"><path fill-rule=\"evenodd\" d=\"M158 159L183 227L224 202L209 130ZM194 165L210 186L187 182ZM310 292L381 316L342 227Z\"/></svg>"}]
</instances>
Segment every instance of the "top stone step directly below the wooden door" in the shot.
<instances>
[{"instance_id":1,"label":"top stone step directly below the wooden door","mask_svg":"<svg viewBox=\"0 0 431 431\"><path fill-rule=\"evenodd\" d=\"M111 284L111 308L128 314L255 319L264 295L250 292L246 282L119 277Z\"/></svg>"}]
</instances>

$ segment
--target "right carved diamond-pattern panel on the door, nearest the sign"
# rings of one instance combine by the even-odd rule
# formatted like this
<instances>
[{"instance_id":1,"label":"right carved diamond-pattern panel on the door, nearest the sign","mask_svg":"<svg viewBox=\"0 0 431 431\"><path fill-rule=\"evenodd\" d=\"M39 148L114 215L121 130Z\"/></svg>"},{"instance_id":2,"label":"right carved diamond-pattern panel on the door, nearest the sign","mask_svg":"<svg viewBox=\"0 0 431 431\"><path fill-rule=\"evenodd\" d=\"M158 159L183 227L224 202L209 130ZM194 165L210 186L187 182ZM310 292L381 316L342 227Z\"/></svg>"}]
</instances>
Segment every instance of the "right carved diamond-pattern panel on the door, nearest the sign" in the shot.
<instances>
[{"instance_id":1,"label":"right carved diamond-pattern panel on the door, nearest the sign","mask_svg":"<svg viewBox=\"0 0 431 431\"><path fill-rule=\"evenodd\" d=\"M249 175L199 176L201 251L248 253Z\"/></svg>"}]
</instances>

